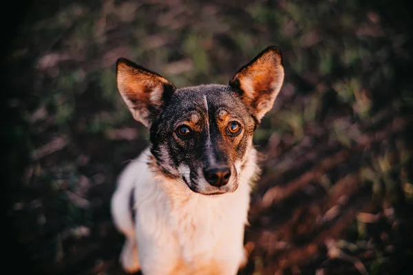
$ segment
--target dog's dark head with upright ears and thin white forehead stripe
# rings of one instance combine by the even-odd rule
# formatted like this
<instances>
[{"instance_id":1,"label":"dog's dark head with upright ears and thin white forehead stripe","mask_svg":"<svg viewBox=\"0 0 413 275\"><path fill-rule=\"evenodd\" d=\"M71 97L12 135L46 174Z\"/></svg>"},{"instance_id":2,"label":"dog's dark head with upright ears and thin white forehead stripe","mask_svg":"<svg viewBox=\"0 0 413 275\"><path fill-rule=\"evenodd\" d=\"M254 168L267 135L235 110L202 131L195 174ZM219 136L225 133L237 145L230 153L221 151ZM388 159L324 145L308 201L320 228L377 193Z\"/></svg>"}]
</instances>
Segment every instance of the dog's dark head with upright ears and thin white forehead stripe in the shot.
<instances>
[{"instance_id":1,"label":"dog's dark head with upright ears and thin white forehead stripe","mask_svg":"<svg viewBox=\"0 0 413 275\"><path fill-rule=\"evenodd\" d=\"M237 189L253 133L284 80L277 47L267 47L229 85L176 89L125 58L116 72L127 107L149 127L154 165L163 175L204 195Z\"/></svg>"}]
</instances>

